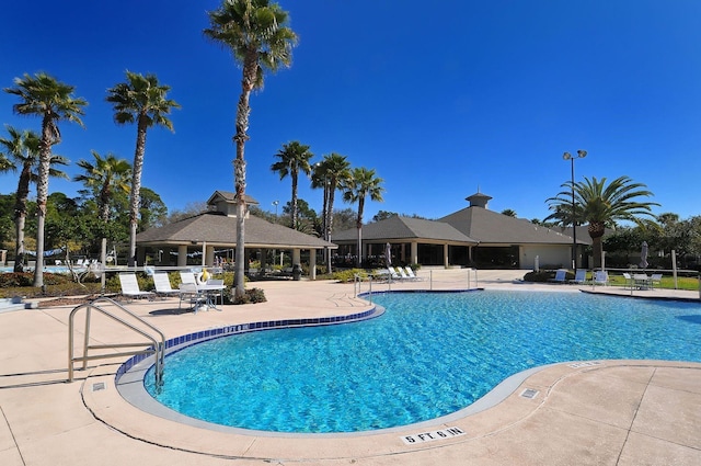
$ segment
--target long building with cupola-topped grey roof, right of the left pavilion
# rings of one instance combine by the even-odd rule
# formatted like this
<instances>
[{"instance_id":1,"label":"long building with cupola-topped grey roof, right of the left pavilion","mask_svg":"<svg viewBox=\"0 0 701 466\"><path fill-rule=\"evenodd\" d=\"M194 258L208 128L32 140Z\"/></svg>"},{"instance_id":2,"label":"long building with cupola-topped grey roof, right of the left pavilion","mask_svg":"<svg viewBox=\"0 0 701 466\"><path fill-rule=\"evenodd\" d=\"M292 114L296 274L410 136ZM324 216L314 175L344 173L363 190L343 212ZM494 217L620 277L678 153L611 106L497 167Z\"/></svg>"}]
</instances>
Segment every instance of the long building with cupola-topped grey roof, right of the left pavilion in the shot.
<instances>
[{"instance_id":1,"label":"long building with cupola-topped grey roof, right of the left pavilion","mask_svg":"<svg viewBox=\"0 0 701 466\"><path fill-rule=\"evenodd\" d=\"M573 239L567 235L487 208L492 197L480 192L470 205L437 220L391 217L363 226L364 258L390 243L393 259L403 263L482 269L539 269L572 264ZM334 234L338 254L355 254L357 232ZM577 238L578 263L585 238Z\"/></svg>"}]
</instances>

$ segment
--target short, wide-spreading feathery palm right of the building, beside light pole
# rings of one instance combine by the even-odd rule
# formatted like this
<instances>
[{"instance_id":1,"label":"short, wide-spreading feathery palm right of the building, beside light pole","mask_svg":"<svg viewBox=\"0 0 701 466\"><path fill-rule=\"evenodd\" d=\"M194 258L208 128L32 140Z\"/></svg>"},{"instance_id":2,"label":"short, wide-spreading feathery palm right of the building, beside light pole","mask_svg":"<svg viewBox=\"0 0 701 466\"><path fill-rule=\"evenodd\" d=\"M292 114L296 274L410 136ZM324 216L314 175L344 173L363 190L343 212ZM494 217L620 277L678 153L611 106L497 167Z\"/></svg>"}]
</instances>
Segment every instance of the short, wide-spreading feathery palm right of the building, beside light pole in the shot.
<instances>
[{"instance_id":1,"label":"short, wide-spreading feathery palm right of the building, beside light pole","mask_svg":"<svg viewBox=\"0 0 701 466\"><path fill-rule=\"evenodd\" d=\"M559 219L572 223L573 218L584 220L589 224L587 230L594 242L594 266L600 268L602 263L604 247L601 237L606 232L606 227L613 227L617 220L633 221L636 225L644 225L644 219L640 216L651 216L652 206L659 205L653 202L637 201L639 197L648 197L653 193L646 190L643 183L633 183L629 177L620 177L606 184L606 178L591 180L585 178L584 181L574 183L575 207L574 216L572 208L572 182L562 184L563 191L556 196L547 200L551 211L554 211L543 221Z\"/></svg>"}]
</instances>

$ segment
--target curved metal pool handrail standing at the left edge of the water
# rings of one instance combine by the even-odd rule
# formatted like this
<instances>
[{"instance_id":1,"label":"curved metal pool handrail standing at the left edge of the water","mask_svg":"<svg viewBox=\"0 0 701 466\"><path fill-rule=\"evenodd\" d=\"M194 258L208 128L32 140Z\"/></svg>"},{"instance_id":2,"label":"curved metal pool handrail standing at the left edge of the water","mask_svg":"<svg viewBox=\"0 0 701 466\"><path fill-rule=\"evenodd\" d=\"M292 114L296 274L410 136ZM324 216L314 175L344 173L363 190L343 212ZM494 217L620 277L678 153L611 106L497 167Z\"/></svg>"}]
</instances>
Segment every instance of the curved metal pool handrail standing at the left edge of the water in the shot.
<instances>
[{"instance_id":1,"label":"curved metal pool handrail standing at the left edge of the water","mask_svg":"<svg viewBox=\"0 0 701 466\"><path fill-rule=\"evenodd\" d=\"M96 303L107 303L110 305L114 305L116 306L118 309L120 309L122 311L126 312L127 315L131 316L134 319L136 319L139 323L148 327L150 330L154 331L158 333L158 336L160 337L160 341L157 340L156 337L153 337L151 333L148 333L147 331L143 331L142 329L127 322L126 320L124 320L123 318L112 314L111 311L96 306ZM74 317L76 314L78 314L78 311L82 308L87 309L87 314L85 314L85 332L84 332L84 338L83 338L83 355L82 356L74 356L74 338L73 338L73 333L74 333ZM122 323L123 326L129 328L130 330L134 330L135 332L137 332L138 334L140 334L141 337L145 337L146 339L149 340L151 346L141 349L141 350L134 350L134 351L123 351L123 352L117 352L117 353L104 353L104 354L95 354L95 355L88 355L88 351L89 350L106 350L106 349L117 349L117 348L134 348L134 346L147 346L149 343L147 342L139 342L139 343L114 343L114 344L90 344L90 321L91 321L91 312L92 310L96 310L97 312L102 314L105 317L108 317L113 320L115 320L116 322ZM161 385L163 383L163 363L164 363L164 359L165 359L165 336L163 334L162 331L160 331L158 328L156 328L154 326L152 326L151 323L147 322L146 320L143 320L142 318L140 318L139 316L137 316L136 314L131 312L129 309L127 309L126 307L122 306L119 303L115 302L114 299L111 299L108 297L99 297L97 299L94 299L90 303L85 303L85 304L81 304L79 306L77 306L73 310L71 310L70 316L68 318L68 382L73 382L73 364L76 362L80 362L82 361L83 363L83 370L85 370L85 367L88 366L88 361L93 361L93 360L100 360L100 359L105 359L105 357L120 357L120 356L128 356L128 355L137 355L137 354L154 354L156 355L156 384L157 385Z\"/></svg>"}]
</instances>

